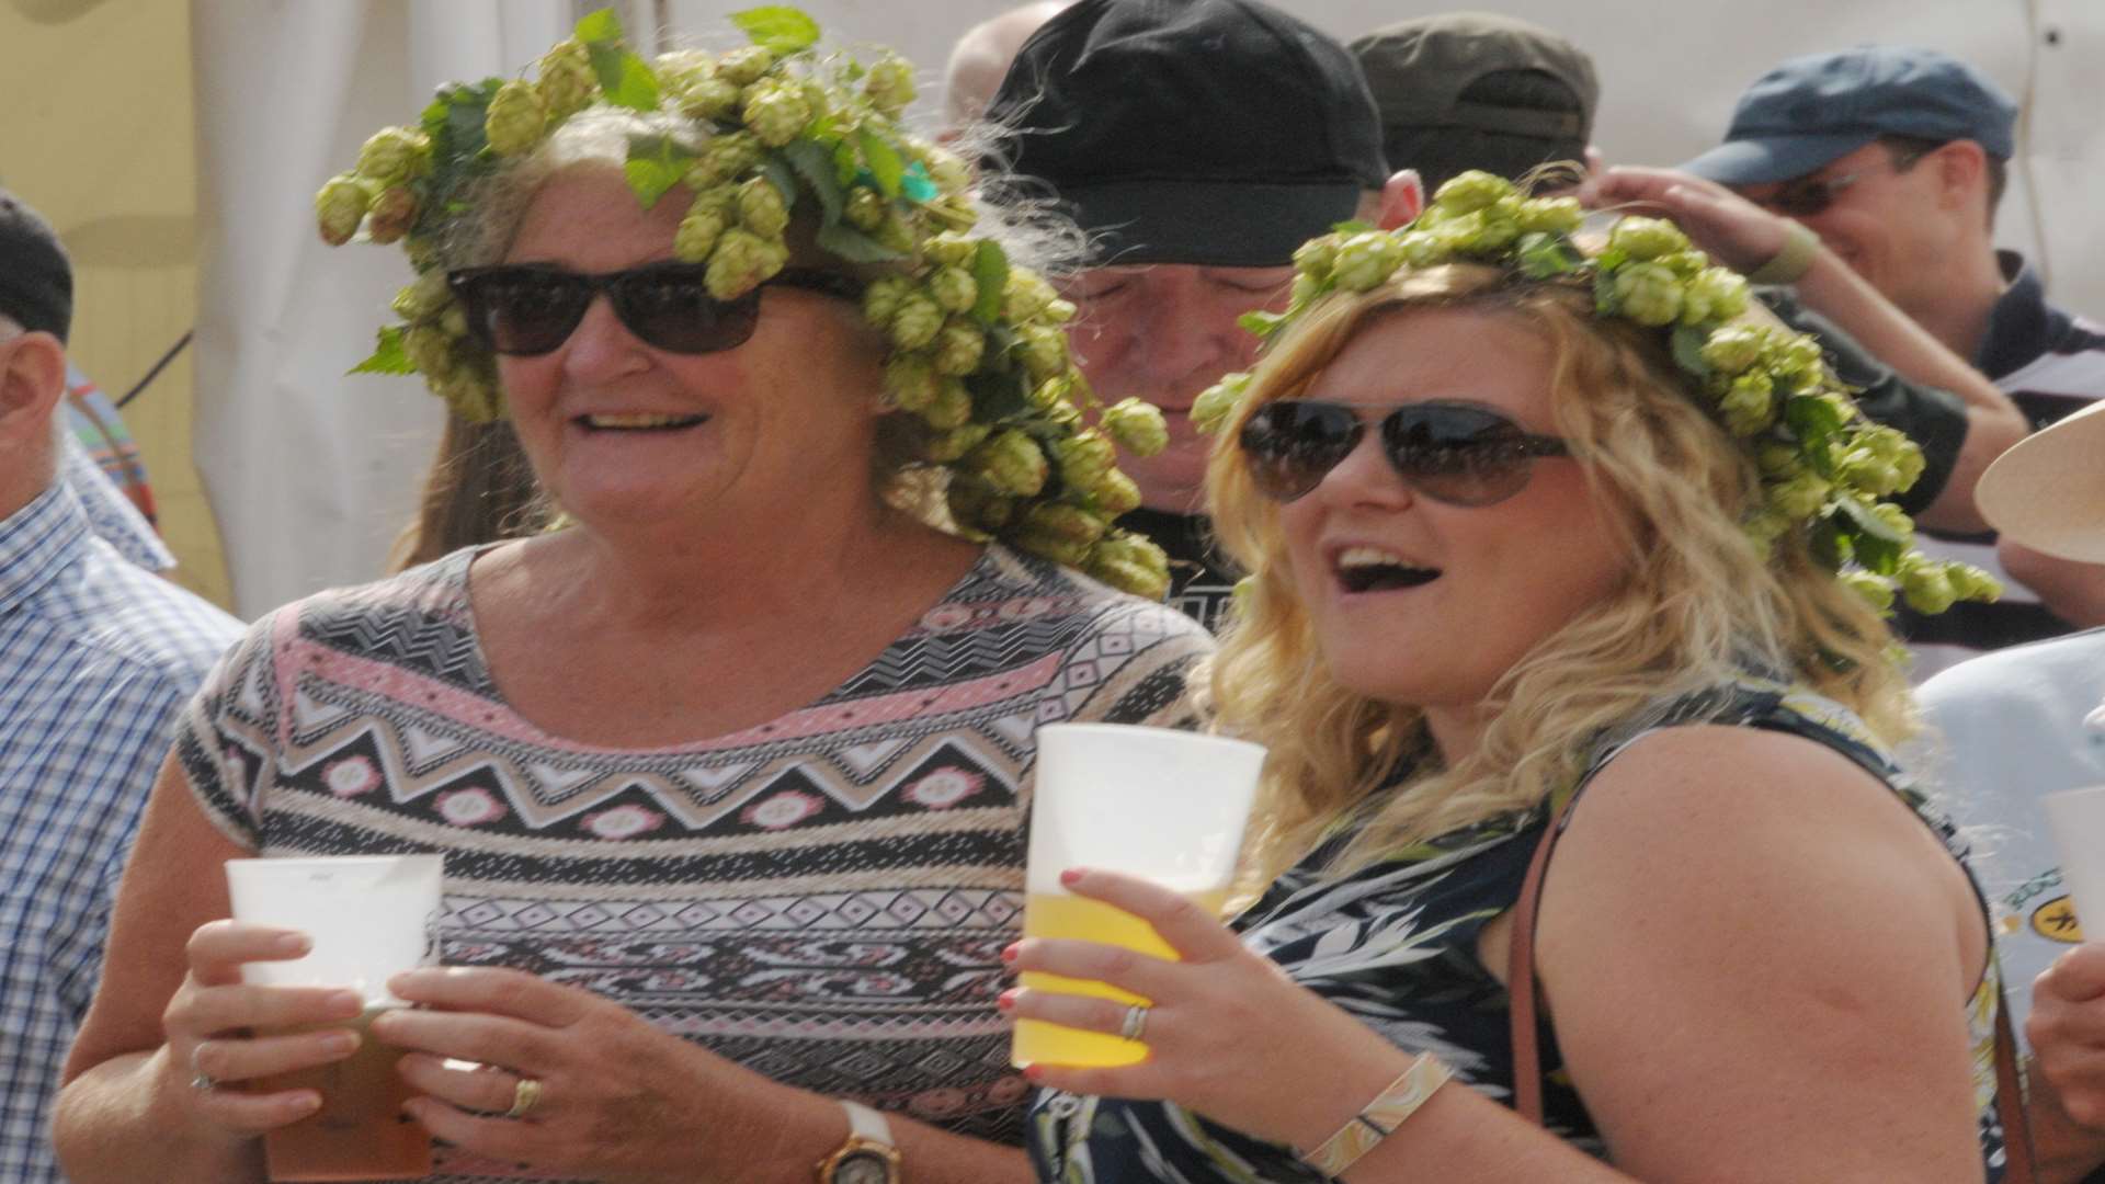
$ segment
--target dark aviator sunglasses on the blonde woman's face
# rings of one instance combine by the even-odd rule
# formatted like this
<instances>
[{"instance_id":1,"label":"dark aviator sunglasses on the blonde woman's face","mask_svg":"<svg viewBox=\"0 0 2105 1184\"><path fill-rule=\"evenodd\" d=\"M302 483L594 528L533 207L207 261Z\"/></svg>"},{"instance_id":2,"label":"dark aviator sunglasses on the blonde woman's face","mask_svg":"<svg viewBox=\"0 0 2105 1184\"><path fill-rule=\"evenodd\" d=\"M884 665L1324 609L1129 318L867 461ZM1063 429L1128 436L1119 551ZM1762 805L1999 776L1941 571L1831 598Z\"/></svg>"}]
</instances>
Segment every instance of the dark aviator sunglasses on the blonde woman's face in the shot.
<instances>
[{"instance_id":1,"label":"dark aviator sunglasses on the blonde woman's face","mask_svg":"<svg viewBox=\"0 0 2105 1184\"><path fill-rule=\"evenodd\" d=\"M1286 398L1242 423L1242 453L1259 493L1292 501L1354 449L1366 423L1351 402ZM1528 485L1535 457L1570 455L1558 436L1535 436L1469 402L1406 402L1381 417L1381 455L1412 491L1448 506L1490 506Z\"/></svg>"}]
</instances>

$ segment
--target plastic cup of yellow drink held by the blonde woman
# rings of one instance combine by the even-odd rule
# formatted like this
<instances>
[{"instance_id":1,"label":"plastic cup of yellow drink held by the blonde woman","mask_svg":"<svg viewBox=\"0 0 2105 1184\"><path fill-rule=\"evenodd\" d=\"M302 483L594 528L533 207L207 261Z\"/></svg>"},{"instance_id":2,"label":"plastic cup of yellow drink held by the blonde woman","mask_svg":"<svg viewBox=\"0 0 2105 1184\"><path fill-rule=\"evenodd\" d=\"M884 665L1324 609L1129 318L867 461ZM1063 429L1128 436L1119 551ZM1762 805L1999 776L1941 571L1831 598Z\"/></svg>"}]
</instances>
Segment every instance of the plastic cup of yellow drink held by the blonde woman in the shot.
<instances>
[{"instance_id":1,"label":"plastic cup of yellow drink held by the blonde woman","mask_svg":"<svg viewBox=\"0 0 2105 1184\"><path fill-rule=\"evenodd\" d=\"M1107 723L1038 729L1023 935L1080 938L1156 959L1177 952L1122 908L1069 893L1067 868L1126 872L1219 914L1257 796L1265 748L1246 739ZM1023 986L1147 1003L1103 982L1025 973ZM1135 1064L1143 1041L1019 1020L1010 1064Z\"/></svg>"}]
</instances>

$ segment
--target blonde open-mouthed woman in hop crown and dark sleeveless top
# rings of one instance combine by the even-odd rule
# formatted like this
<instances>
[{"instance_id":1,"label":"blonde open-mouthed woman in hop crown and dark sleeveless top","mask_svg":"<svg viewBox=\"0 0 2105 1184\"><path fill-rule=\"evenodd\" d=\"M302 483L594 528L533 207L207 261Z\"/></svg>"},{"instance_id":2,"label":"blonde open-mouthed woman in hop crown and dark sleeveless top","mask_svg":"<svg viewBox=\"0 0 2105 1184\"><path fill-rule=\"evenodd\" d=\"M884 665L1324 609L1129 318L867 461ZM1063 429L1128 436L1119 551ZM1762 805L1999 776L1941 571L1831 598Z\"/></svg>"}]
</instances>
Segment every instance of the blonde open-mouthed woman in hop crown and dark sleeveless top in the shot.
<instances>
[{"instance_id":1,"label":"blonde open-mouthed woman in hop crown and dark sleeveless top","mask_svg":"<svg viewBox=\"0 0 2105 1184\"><path fill-rule=\"evenodd\" d=\"M1985 906L1886 754L1871 603L1983 588L1911 552L1880 501L1920 459L1739 276L1577 223L1478 173L1311 242L1204 400L1255 904L1069 872L1181 961L1010 950L1147 1001L1004 996L1149 1047L1029 1070L1040 1180L2021 1178Z\"/></svg>"}]
</instances>

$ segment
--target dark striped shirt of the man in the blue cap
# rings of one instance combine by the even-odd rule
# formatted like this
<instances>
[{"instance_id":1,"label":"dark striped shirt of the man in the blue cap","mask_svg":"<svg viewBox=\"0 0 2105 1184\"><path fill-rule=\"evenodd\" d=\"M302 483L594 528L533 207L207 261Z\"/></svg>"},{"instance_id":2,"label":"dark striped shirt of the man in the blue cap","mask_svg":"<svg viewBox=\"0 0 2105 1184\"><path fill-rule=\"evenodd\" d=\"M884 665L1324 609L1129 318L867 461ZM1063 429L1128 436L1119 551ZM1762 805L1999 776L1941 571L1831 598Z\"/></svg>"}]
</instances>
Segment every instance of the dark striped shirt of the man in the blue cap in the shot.
<instances>
[{"instance_id":1,"label":"dark striped shirt of the man in the blue cap","mask_svg":"<svg viewBox=\"0 0 2105 1184\"><path fill-rule=\"evenodd\" d=\"M2105 398L2105 324L2046 303L2040 274L2014 251L2000 251L1998 257L2010 287L1989 314L1987 337L1981 341L1974 367L2010 396L2038 432L2088 407L2090 400ZM1907 609L1894 615L1894 632L1916 655L1911 676L1918 683L1977 653L2076 628L2046 611L2029 588L2010 579L1996 560L1991 531L1956 535L1924 529L1918 539L1924 554L1970 563L2004 586L2002 598L1993 605L1960 603L1934 617Z\"/></svg>"}]
</instances>

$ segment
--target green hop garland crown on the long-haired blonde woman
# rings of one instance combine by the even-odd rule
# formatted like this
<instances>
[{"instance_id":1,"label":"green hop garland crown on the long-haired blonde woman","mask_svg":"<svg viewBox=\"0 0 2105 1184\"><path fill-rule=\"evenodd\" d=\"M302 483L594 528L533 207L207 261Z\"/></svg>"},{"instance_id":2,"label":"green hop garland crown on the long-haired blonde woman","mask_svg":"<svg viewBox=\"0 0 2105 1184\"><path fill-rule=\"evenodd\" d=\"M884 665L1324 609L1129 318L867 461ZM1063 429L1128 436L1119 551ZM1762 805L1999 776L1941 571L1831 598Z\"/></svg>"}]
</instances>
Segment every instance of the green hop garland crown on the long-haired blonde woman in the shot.
<instances>
[{"instance_id":1,"label":"green hop garland crown on the long-haired blonde woman","mask_svg":"<svg viewBox=\"0 0 2105 1184\"><path fill-rule=\"evenodd\" d=\"M1880 613L1892 611L1894 594L1916 611L1941 613L2002 592L1977 567L1916 550L1913 522L1888 497L1922 476L1922 451L1857 409L1819 341L1743 322L1747 280L1711 265L1671 221L1621 217L1593 255L1572 240L1583 221L1577 198L1526 198L1503 177L1463 173L1396 232L1345 223L1305 242L1295 251L1286 312L1252 312L1242 324L1271 337L1330 293L1366 293L1398 272L1444 263L1591 284L1593 314L1663 333L1682 386L1753 455L1762 499L1745 531L1758 546L1768 550L1804 531L1812 556ZM1204 432L1227 426L1248 381L1248 373L1234 373L1206 390L1191 407L1194 423Z\"/></svg>"}]
</instances>

